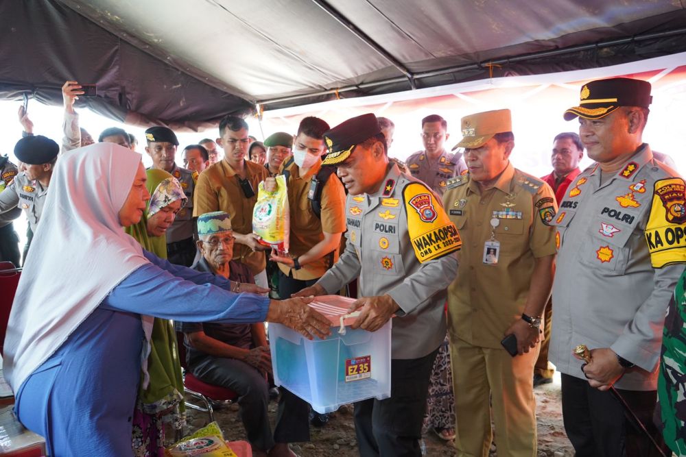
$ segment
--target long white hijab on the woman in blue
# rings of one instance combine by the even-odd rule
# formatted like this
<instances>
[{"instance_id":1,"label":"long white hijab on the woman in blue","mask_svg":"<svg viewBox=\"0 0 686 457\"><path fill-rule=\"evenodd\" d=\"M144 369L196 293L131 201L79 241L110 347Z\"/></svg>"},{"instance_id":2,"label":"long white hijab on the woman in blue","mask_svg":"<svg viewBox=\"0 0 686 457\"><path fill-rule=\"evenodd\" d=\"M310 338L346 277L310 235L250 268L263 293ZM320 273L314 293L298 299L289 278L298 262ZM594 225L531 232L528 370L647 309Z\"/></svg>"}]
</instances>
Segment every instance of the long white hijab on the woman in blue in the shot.
<instances>
[{"instance_id":1,"label":"long white hijab on the woman in blue","mask_svg":"<svg viewBox=\"0 0 686 457\"><path fill-rule=\"evenodd\" d=\"M60 156L34 234L5 336L4 374L26 378L132 271L141 245L119 223L141 154L96 143Z\"/></svg>"}]
</instances>

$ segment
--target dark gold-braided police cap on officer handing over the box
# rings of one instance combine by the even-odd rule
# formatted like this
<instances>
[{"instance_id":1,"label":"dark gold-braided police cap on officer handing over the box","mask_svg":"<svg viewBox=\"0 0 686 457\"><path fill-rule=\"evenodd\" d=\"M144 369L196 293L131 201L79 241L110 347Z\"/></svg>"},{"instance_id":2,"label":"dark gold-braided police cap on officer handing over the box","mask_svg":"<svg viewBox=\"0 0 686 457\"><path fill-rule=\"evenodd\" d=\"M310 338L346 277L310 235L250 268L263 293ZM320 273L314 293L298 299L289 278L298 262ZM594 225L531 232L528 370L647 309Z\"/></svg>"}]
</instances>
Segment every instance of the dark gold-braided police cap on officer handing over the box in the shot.
<instances>
[{"instance_id":1,"label":"dark gold-braided police cap on officer handing over the box","mask_svg":"<svg viewBox=\"0 0 686 457\"><path fill-rule=\"evenodd\" d=\"M379 121L374 114L362 114L344 121L324 133L329 154L322 165L340 164L355 151L355 147L365 140L381 134Z\"/></svg>"}]
</instances>

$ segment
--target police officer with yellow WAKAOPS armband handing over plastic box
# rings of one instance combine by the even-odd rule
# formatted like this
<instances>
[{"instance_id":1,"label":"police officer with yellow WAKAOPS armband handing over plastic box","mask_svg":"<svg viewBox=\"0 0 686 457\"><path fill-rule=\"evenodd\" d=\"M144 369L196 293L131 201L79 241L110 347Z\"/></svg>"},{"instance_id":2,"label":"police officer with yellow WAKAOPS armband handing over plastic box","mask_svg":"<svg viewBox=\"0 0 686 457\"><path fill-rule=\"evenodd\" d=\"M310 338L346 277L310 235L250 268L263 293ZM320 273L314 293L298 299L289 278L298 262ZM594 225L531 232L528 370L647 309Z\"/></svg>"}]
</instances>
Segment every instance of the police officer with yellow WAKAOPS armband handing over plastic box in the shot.
<instances>
[{"instance_id":1,"label":"police officer with yellow WAKAOPS armband handing over plastic box","mask_svg":"<svg viewBox=\"0 0 686 457\"><path fill-rule=\"evenodd\" d=\"M314 286L296 296L336 293L359 277L353 328L392 323L391 396L355 403L362 456L420 456L429 372L445 337L445 288L461 241L425 184L389 164L374 114L333 127L324 165L337 165L348 189L346 250Z\"/></svg>"}]
</instances>

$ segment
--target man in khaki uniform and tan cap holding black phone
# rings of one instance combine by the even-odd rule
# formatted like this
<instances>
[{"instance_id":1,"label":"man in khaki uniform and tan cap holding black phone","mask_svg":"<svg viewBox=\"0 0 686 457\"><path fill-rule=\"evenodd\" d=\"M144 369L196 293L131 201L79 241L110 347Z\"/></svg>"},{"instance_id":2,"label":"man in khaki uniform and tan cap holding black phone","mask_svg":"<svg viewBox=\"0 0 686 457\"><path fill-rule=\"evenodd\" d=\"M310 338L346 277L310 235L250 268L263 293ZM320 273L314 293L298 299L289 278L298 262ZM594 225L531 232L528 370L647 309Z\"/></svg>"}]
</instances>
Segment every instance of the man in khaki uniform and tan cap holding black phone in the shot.
<instances>
[{"instance_id":1,"label":"man in khaki uniform and tan cap holding black phone","mask_svg":"<svg viewBox=\"0 0 686 457\"><path fill-rule=\"evenodd\" d=\"M557 206L547 184L510 163L510 110L464 116L462 135L469 173L449 180L443 195L465 242L448 289L455 444L458 456L488 456L492 408L498 455L536 456L534 362Z\"/></svg>"}]
</instances>

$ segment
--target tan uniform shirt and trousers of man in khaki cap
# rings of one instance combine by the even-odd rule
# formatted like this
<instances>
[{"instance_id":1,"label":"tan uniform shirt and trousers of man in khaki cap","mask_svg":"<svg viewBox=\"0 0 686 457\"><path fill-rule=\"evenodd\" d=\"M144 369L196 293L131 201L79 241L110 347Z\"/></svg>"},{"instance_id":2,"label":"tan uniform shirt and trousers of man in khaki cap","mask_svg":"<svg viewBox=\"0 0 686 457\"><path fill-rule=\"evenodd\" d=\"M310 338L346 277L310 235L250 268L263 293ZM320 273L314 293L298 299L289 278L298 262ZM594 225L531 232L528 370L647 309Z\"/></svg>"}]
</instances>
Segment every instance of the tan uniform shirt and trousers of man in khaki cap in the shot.
<instances>
[{"instance_id":1,"label":"tan uniform shirt and trousers of man in khaki cap","mask_svg":"<svg viewBox=\"0 0 686 457\"><path fill-rule=\"evenodd\" d=\"M535 455L532 380L539 347L513 358L500 342L524 310L535 259L555 254L555 232L547 225L556 211L554 194L508 164L484 192L469 175L450 180L443 202L464 242L460 273L448 289L458 455L488 455L491 396L498 453ZM492 230L500 243L495 265L484 264Z\"/></svg>"}]
</instances>

